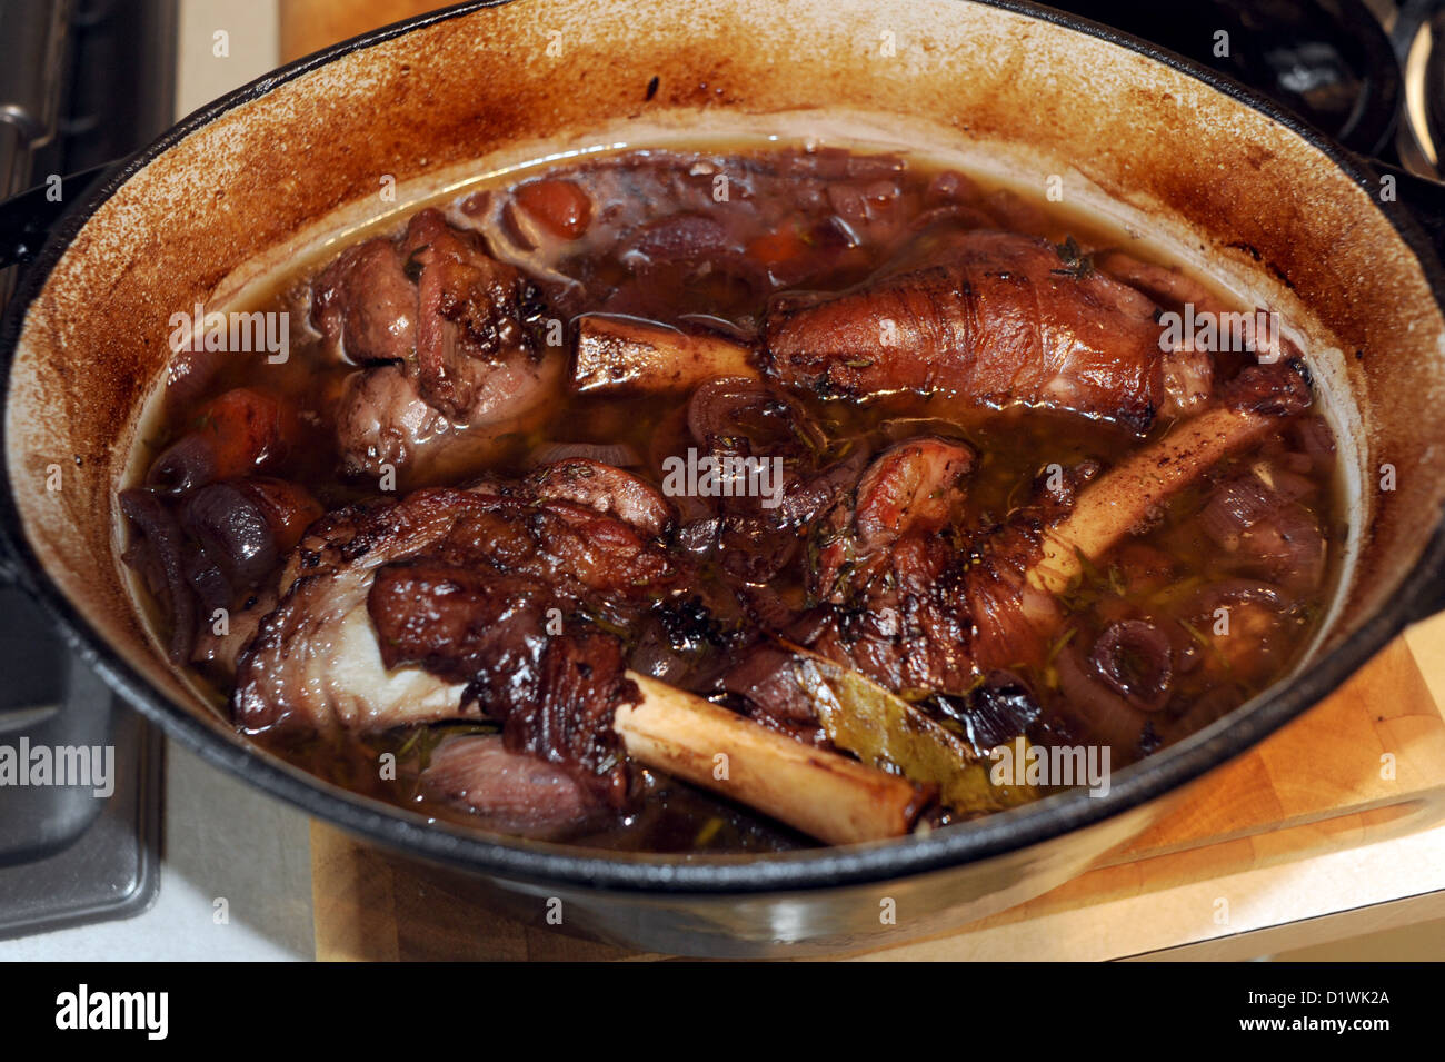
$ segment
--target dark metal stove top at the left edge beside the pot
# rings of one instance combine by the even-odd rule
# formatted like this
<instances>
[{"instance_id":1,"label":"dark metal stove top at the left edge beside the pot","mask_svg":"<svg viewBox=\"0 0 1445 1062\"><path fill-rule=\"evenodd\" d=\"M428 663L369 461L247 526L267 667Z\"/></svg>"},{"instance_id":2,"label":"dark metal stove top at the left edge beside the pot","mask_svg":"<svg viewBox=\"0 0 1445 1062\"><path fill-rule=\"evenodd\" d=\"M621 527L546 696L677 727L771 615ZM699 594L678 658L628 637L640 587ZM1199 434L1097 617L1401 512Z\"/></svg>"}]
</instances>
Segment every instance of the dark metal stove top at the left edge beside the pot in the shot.
<instances>
[{"instance_id":1,"label":"dark metal stove top at the left edge beside the pot","mask_svg":"<svg viewBox=\"0 0 1445 1062\"><path fill-rule=\"evenodd\" d=\"M117 159L171 123L173 3L0 0L0 197ZM12 283L0 273L0 301ZM160 735L6 575L0 936L136 913L159 881Z\"/></svg>"}]
</instances>

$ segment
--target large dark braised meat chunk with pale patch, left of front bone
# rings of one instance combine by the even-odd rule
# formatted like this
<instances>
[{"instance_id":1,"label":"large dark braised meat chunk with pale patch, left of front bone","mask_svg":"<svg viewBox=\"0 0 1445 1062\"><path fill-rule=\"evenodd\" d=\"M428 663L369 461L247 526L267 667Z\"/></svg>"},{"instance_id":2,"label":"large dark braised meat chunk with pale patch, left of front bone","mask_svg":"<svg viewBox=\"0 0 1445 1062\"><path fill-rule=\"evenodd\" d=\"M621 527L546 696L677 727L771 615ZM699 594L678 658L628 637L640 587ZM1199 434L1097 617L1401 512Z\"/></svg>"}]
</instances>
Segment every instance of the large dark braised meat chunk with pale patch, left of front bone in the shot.
<instances>
[{"instance_id":1,"label":"large dark braised meat chunk with pale patch, left of front bone","mask_svg":"<svg viewBox=\"0 0 1445 1062\"><path fill-rule=\"evenodd\" d=\"M543 468L507 497L423 490L314 526L241 653L237 722L383 730L484 715L510 751L624 800L611 715L634 691L610 631L636 624L676 568L649 542L649 514L634 527L548 497L561 478ZM646 496L627 472L605 478L614 509Z\"/></svg>"}]
</instances>

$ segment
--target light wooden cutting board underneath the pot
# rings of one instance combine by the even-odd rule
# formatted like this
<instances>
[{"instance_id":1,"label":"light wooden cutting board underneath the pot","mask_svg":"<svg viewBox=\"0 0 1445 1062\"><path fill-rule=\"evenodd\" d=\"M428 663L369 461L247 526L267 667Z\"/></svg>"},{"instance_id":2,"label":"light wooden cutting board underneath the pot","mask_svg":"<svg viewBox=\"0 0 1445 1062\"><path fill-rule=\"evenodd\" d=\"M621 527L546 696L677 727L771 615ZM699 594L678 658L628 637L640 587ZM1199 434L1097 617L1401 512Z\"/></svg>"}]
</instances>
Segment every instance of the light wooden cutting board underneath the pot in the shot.
<instances>
[{"instance_id":1,"label":"light wooden cutting board underneath the pot","mask_svg":"<svg viewBox=\"0 0 1445 1062\"><path fill-rule=\"evenodd\" d=\"M280 59L438 6L282 0ZM1260 931L1277 923L1280 910L1322 916L1445 889L1431 863L1435 854L1445 860L1445 829L1397 842L1405 845L1399 855L1381 844L1445 811L1442 704L1445 617L1436 617L1387 646L1328 701L1212 773L1173 815L1104 865L948 938L880 954L1111 958ZM1381 770L1387 754L1393 777ZM1368 887L1338 861L1366 845L1379 864ZM1259 900L1235 905L1240 913L1230 926L1178 909L1191 903L1181 899L1191 887L1207 902L1227 880L1243 881L1231 887ZM629 957L494 915L470 897L465 878L321 824L312 826L312 890L316 955L324 959Z\"/></svg>"}]
</instances>

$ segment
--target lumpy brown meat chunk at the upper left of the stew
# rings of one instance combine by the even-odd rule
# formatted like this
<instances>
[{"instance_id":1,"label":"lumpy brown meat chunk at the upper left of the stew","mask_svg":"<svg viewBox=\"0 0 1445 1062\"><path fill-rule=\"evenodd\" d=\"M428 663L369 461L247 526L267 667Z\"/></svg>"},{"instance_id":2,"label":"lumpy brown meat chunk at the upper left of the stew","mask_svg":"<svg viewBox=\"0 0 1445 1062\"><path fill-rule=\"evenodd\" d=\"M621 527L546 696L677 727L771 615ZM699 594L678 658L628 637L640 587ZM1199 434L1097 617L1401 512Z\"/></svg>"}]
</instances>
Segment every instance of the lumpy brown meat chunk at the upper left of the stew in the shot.
<instances>
[{"instance_id":1,"label":"lumpy brown meat chunk at the upper left of the stew","mask_svg":"<svg viewBox=\"0 0 1445 1062\"><path fill-rule=\"evenodd\" d=\"M539 335L545 308L538 285L436 210L337 259L311 316L334 355L366 366L337 415L344 471L457 475L536 420L564 370Z\"/></svg>"}]
</instances>

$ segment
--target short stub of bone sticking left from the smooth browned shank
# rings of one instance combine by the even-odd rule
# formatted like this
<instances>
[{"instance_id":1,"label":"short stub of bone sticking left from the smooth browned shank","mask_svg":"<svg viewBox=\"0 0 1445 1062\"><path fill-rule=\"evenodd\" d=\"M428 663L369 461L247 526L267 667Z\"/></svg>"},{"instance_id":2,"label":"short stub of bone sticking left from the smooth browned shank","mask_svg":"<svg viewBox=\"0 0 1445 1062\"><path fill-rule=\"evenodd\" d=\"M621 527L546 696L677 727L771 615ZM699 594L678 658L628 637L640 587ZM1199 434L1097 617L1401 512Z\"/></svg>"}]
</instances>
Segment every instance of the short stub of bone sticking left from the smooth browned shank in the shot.
<instances>
[{"instance_id":1,"label":"short stub of bone sticking left from the smooth browned shank","mask_svg":"<svg viewBox=\"0 0 1445 1062\"><path fill-rule=\"evenodd\" d=\"M578 393L681 393L720 376L757 379L749 348L721 335L682 332L636 318L585 316L578 325L572 364Z\"/></svg>"}]
</instances>

